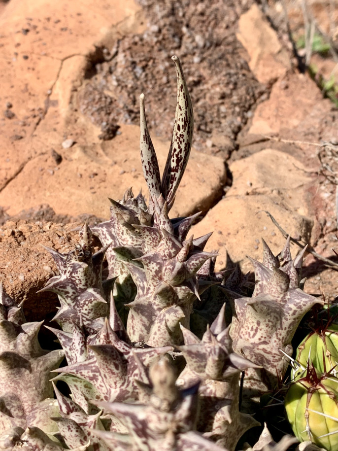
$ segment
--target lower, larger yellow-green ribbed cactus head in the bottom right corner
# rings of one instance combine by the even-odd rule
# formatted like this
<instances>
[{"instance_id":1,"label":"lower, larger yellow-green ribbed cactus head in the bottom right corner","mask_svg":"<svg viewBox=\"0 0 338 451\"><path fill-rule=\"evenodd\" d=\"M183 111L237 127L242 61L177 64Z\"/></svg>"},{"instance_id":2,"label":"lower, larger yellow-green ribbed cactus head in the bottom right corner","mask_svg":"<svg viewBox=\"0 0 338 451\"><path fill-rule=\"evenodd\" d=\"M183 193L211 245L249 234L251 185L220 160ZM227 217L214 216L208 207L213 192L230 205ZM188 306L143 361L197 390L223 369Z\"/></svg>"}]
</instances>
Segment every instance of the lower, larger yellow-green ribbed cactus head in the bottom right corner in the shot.
<instances>
[{"instance_id":1,"label":"lower, larger yellow-green ribbed cactus head in the bottom right corner","mask_svg":"<svg viewBox=\"0 0 338 451\"><path fill-rule=\"evenodd\" d=\"M285 410L300 442L311 441L327 451L338 449L338 379L307 367L304 378L291 384Z\"/></svg>"}]
</instances>

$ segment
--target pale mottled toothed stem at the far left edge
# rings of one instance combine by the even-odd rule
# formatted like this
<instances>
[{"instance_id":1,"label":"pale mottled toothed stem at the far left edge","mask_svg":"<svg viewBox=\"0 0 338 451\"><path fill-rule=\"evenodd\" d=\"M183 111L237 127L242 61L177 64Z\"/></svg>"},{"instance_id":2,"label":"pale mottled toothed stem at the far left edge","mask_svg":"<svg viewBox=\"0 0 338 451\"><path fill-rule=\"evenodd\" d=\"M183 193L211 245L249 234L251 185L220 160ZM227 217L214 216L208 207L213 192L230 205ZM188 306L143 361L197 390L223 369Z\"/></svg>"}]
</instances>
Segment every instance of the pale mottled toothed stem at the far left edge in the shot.
<instances>
[{"instance_id":1,"label":"pale mottled toothed stem at the far left edge","mask_svg":"<svg viewBox=\"0 0 338 451\"><path fill-rule=\"evenodd\" d=\"M26 322L21 307L0 284L0 432L16 426L50 432L56 429L50 416L58 414L50 371L59 366L64 351L40 347L42 323Z\"/></svg>"}]
</instances>

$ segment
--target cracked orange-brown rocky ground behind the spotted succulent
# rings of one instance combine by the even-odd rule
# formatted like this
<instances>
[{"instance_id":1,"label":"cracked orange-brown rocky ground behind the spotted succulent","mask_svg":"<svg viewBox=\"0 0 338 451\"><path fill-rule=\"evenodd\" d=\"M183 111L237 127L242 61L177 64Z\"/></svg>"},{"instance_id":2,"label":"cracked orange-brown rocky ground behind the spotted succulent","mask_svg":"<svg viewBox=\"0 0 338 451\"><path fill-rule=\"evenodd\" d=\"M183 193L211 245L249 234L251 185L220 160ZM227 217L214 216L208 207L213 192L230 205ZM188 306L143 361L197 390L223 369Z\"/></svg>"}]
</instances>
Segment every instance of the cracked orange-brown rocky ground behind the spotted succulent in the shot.
<instances>
[{"instance_id":1,"label":"cracked orange-brown rocky ground behind the spotted succulent","mask_svg":"<svg viewBox=\"0 0 338 451\"><path fill-rule=\"evenodd\" d=\"M301 5L0 1L0 277L25 299L28 320L56 305L35 295L55 271L41 244L68 251L79 223L108 217L108 197L130 186L146 193L141 92L164 167L173 54L187 78L195 135L172 214L202 211L194 235L214 231L218 268L239 262L250 271L246 255L261 258L261 238L281 250L285 239L267 211L293 239L338 262L338 109L318 87L318 73L334 74L336 63L331 53L310 55L316 84L290 39L313 19L334 50L338 8L312 0L305 16ZM306 257L305 289L333 301L338 274L328 265Z\"/></svg>"}]
</instances>

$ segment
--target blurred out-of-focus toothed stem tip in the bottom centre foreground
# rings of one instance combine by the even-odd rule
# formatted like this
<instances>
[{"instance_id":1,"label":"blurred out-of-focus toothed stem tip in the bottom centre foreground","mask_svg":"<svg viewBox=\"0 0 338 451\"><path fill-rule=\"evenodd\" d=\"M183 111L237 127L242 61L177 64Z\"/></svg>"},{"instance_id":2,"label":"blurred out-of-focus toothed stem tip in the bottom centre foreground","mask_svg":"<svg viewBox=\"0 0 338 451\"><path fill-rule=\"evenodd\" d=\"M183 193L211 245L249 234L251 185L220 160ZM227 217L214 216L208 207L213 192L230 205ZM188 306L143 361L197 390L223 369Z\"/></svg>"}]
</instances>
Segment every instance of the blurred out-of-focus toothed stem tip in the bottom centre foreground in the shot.
<instances>
[{"instance_id":1,"label":"blurred out-of-focus toothed stem tip in the bottom centre foreground","mask_svg":"<svg viewBox=\"0 0 338 451\"><path fill-rule=\"evenodd\" d=\"M210 450L222 448L193 432L198 408L199 383L180 390L175 368L166 357L149 369L150 385L143 385L148 402L142 404L100 403L126 425L127 434L97 432L114 450Z\"/></svg>"}]
</instances>

